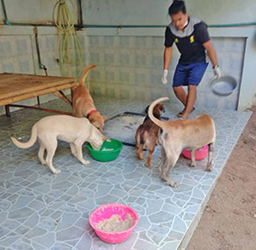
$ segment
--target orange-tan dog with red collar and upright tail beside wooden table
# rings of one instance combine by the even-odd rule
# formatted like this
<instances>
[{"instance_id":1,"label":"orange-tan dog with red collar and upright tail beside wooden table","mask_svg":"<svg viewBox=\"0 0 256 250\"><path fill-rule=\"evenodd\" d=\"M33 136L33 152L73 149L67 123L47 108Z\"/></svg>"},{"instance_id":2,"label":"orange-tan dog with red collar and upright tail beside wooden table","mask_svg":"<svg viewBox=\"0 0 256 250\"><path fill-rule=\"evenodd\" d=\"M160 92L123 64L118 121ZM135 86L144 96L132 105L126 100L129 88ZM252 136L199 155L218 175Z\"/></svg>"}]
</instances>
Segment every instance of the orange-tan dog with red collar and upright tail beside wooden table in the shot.
<instances>
[{"instance_id":1,"label":"orange-tan dog with red collar and upright tail beside wooden table","mask_svg":"<svg viewBox=\"0 0 256 250\"><path fill-rule=\"evenodd\" d=\"M96 65L90 65L85 68L79 86L72 89L72 115L74 117L87 117L90 123L96 128L99 128L100 132L103 133L104 120L108 117L100 115L100 112L96 110L92 96L89 90L84 86L88 71L94 67L96 67Z\"/></svg>"}]
</instances>

